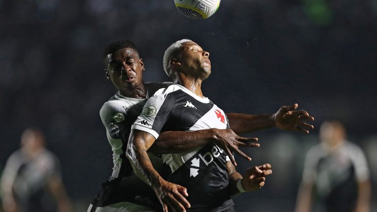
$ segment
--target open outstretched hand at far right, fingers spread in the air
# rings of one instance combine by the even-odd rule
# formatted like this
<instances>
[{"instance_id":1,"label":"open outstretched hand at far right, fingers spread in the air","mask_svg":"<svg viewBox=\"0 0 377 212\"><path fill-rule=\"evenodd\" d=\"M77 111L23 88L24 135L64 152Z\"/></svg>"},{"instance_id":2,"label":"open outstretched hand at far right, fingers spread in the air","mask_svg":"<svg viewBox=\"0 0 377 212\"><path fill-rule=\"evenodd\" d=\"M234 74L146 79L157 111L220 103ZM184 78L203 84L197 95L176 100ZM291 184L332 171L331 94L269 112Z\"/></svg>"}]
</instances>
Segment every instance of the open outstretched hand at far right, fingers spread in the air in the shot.
<instances>
[{"instance_id":1,"label":"open outstretched hand at far right, fingers spread in the air","mask_svg":"<svg viewBox=\"0 0 377 212\"><path fill-rule=\"evenodd\" d=\"M309 116L309 113L301 110L295 111L298 104L292 106L282 106L274 115L273 120L275 127L281 130L300 131L303 133L309 133L309 130L313 129L313 125L310 125L304 120L313 121L314 118Z\"/></svg>"}]
</instances>

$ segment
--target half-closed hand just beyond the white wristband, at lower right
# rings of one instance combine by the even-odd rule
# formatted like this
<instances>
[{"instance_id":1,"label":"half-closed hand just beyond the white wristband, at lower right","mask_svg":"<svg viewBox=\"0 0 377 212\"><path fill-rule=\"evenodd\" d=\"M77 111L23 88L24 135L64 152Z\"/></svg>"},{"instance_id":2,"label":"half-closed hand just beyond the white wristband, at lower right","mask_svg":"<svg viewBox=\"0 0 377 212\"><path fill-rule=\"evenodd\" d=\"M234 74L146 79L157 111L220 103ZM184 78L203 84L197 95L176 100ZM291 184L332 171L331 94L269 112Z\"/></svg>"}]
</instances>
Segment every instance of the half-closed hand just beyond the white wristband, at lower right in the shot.
<instances>
[{"instance_id":1,"label":"half-closed hand just beyond the white wristband, at lower right","mask_svg":"<svg viewBox=\"0 0 377 212\"><path fill-rule=\"evenodd\" d=\"M247 191L262 188L265 185L266 176L270 174L272 174L270 164L248 168L242 176L242 188Z\"/></svg>"}]
</instances>

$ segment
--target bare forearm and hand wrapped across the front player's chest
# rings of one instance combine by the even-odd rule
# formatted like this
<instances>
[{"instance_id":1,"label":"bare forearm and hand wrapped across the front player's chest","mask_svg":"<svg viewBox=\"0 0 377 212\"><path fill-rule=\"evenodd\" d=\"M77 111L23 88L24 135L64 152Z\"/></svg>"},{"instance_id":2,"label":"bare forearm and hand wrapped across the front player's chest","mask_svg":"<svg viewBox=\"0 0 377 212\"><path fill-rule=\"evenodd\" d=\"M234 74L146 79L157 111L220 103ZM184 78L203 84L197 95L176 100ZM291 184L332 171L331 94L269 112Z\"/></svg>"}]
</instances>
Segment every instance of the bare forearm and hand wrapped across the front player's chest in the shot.
<instances>
[{"instance_id":1,"label":"bare forearm and hand wrapped across the front player's chest","mask_svg":"<svg viewBox=\"0 0 377 212\"><path fill-rule=\"evenodd\" d=\"M162 132L158 139L148 150L154 154L181 153L189 149L214 142L216 145L227 151L231 155L233 165L237 165L231 152L236 152L246 160L251 158L244 154L239 147L258 147L257 138L244 138L238 136L231 129L206 129L198 131L168 131Z\"/></svg>"}]
</instances>

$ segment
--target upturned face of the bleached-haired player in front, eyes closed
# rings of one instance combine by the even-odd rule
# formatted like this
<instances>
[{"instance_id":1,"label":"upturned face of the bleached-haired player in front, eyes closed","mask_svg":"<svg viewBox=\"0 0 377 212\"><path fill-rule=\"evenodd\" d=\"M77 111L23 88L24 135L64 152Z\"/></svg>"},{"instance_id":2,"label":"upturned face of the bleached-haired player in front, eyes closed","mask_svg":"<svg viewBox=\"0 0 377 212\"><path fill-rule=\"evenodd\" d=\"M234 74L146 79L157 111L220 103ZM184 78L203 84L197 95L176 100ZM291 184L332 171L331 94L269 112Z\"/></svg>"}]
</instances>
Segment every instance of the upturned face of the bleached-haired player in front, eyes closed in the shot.
<instances>
[{"instance_id":1,"label":"upturned face of the bleached-haired player in front, eyes closed","mask_svg":"<svg viewBox=\"0 0 377 212\"><path fill-rule=\"evenodd\" d=\"M206 79L211 74L210 53L195 42L186 42L180 52L178 62L181 71L191 76Z\"/></svg>"}]
</instances>

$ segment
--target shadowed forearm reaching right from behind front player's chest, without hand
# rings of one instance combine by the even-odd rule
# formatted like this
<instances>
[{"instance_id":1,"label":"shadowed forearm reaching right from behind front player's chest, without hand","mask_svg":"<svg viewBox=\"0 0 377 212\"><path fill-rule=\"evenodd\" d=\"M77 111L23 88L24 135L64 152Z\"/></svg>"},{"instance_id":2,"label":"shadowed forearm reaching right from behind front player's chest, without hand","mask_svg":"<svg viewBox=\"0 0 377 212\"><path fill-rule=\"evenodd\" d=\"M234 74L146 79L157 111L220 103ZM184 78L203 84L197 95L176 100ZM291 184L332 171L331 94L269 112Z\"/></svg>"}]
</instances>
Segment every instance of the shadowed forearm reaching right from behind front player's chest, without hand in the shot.
<instances>
[{"instance_id":1,"label":"shadowed forearm reaching right from behind front player's chest, without hand","mask_svg":"<svg viewBox=\"0 0 377 212\"><path fill-rule=\"evenodd\" d=\"M230 128L236 134L249 133L274 126L272 114L267 115L248 115L248 114L226 114Z\"/></svg>"}]
</instances>

